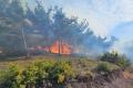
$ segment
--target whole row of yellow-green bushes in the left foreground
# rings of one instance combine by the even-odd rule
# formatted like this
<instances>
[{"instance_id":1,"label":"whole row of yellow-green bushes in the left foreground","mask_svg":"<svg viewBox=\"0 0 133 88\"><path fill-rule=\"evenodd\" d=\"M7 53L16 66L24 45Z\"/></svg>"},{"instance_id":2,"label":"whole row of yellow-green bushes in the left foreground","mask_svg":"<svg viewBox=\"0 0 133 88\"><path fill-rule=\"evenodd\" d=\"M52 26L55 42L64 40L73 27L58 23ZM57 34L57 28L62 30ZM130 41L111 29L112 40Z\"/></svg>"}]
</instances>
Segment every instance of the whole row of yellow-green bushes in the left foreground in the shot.
<instances>
[{"instance_id":1,"label":"whole row of yellow-green bushes in the left foreground","mask_svg":"<svg viewBox=\"0 0 133 88\"><path fill-rule=\"evenodd\" d=\"M0 77L0 88L51 88L64 85L73 72L68 62L39 62L22 70L11 66Z\"/></svg>"}]
</instances>

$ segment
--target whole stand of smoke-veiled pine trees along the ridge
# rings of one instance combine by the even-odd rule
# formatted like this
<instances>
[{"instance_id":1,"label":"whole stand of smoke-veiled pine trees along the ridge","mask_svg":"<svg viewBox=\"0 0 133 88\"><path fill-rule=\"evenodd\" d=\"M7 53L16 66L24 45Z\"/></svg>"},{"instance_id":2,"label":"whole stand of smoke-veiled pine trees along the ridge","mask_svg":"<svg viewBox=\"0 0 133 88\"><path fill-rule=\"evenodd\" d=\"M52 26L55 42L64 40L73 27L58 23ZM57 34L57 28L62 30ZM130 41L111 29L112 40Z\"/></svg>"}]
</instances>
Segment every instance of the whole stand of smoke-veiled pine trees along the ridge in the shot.
<instances>
[{"instance_id":1,"label":"whole stand of smoke-veiled pine trees along the ridge","mask_svg":"<svg viewBox=\"0 0 133 88\"><path fill-rule=\"evenodd\" d=\"M31 9L27 1L24 4L21 0L0 1L0 50L6 54L24 54L27 47L37 45L50 47L55 41L59 47L65 41L79 53L100 53L108 51L115 41L95 36L85 20L79 22L75 16L68 18L62 8L44 9L37 2Z\"/></svg>"}]
</instances>

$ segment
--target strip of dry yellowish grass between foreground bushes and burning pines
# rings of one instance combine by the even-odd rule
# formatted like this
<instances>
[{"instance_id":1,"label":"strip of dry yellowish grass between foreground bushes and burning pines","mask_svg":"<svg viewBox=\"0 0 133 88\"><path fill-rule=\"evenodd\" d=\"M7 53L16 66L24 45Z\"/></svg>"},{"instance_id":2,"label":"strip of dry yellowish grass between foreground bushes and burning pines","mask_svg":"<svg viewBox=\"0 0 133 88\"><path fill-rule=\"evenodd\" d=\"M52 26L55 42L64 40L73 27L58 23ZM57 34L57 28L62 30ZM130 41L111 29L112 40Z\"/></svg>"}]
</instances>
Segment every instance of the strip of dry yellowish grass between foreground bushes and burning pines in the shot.
<instances>
[{"instance_id":1,"label":"strip of dry yellowish grass between foreground bushes and burning pines","mask_svg":"<svg viewBox=\"0 0 133 88\"><path fill-rule=\"evenodd\" d=\"M10 58L10 59L4 59L4 61L0 61L0 70L4 70L7 68L9 68L11 65L18 65L22 68L33 64L33 63L38 63L38 62L48 62L48 61L52 61L52 62L60 62L60 61L66 61L66 62L71 62L71 66L73 68L73 70L75 70L76 73L84 73L88 70L92 70L94 69L100 63L100 61L94 61L92 58L89 57L82 57L82 56L66 56L66 55L62 55L62 56L58 56L58 55L45 55L45 56L33 56L33 57L19 57L19 58ZM110 69L116 69L119 68L116 65L110 64Z\"/></svg>"}]
</instances>

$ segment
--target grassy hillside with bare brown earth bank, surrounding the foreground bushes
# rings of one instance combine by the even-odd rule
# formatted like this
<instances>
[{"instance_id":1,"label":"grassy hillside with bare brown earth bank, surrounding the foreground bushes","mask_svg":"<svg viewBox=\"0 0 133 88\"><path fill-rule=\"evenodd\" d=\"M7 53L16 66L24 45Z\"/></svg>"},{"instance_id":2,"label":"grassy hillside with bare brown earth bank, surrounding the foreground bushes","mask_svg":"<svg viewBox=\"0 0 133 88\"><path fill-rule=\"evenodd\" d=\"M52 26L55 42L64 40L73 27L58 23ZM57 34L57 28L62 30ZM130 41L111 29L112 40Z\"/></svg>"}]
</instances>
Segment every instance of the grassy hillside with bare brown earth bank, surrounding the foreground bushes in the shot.
<instances>
[{"instance_id":1,"label":"grassy hillside with bare brown earth bank, surrounding the foreground bushes","mask_svg":"<svg viewBox=\"0 0 133 88\"><path fill-rule=\"evenodd\" d=\"M66 72L72 72L74 74L74 77L72 77L72 79L69 79L69 81L63 84L63 86L65 86L66 88L132 88L130 87L132 80L131 74L126 72L123 73L116 65L100 61L93 61L88 57L58 56L53 54L47 56L35 56L31 58L21 57L11 61L0 62L0 69L1 72L7 69L9 70L9 67L17 65L19 67L19 70L20 68L23 70L29 68L30 65L32 66L34 63L41 64L40 62L44 65L45 63L50 62L61 62L61 65L63 66L66 66L65 64L66 62L69 62L70 68ZM101 69L102 72L98 70L98 68L101 67L101 64L108 65L108 68L104 69L103 67ZM53 67L53 69L54 68L57 68L57 65ZM55 75L55 73L53 75ZM61 85L62 84L54 84L54 87L52 88L59 88Z\"/></svg>"}]
</instances>

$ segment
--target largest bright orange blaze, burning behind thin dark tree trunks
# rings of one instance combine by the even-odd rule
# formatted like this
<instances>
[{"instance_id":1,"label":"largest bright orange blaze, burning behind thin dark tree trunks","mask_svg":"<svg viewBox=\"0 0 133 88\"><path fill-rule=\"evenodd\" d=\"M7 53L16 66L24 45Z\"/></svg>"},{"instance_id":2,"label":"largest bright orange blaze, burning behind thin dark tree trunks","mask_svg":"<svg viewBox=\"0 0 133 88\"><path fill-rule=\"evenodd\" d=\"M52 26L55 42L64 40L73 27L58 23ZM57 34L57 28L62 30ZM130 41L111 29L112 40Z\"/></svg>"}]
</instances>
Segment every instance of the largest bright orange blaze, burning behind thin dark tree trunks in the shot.
<instances>
[{"instance_id":1,"label":"largest bright orange blaze, burning behind thin dark tree trunks","mask_svg":"<svg viewBox=\"0 0 133 88\"><path fill-rule=\"evenodd\" d=\"M68 54L70 55L72 53L71 46L65 43L65 42L54 42L53 45L51 46L51 52L52 53L58 53L58 54Z\"/></svg>"}]
</instances>

